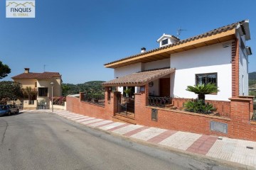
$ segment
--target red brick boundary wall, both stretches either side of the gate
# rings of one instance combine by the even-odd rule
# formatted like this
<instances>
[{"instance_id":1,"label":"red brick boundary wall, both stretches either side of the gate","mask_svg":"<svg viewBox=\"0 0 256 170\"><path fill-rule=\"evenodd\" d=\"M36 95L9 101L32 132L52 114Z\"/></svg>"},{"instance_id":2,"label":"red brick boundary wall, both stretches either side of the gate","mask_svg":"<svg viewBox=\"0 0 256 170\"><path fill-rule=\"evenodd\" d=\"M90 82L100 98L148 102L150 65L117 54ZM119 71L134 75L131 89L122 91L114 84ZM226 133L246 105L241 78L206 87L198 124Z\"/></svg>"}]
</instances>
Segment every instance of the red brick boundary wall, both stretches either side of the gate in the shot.
<instances>
[{"instance_id":1,"label":"red brick boundary wall, both stretches either side of the gate","mask_svg":"<svg viewBox=\"0 0 256 170\"><path fill-rule=\"evenodd\" d=\"M230 102L227 103L224 101L224 105L226 105L224 111L230 113L228 118L155 108L158 110L158 120L155 121L151 120L152 107L147 106L148 100L146 97L148 96L148 88L149 87L146 85L144 86L144 91L141 91L140 94L135 94L135 120L139 125L256 141L256 122L250 121L252 96L230 98ZM68 96L67 110L94 118L112 120L114 113L117 113L118 93L119 92L111 92L110 101L107 101L106 89L104 107L80 101L80 98L82 99L82 93L80 94L80 98ZM186 99L183 101L185 100ZM213 102L218 103L218 101ZM220 103L221 102L223 101L220 101ZM230 110L229 112L228 109ZM226 123L228 125L228 133L225 134L210 130L211 121Z\"/></svg>"}]
</instances>

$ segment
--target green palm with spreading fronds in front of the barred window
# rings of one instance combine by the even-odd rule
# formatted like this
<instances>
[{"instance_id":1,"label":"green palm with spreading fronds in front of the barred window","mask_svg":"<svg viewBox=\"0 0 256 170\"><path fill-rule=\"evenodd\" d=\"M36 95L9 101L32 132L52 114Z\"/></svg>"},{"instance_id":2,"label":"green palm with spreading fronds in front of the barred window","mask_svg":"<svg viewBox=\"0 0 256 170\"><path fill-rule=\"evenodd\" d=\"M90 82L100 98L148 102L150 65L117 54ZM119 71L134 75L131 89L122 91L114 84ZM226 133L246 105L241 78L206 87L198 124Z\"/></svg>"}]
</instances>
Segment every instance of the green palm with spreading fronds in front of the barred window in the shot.
<instances>
[{"instance_id":1,"label":"green palm with spreading fronds in front of the barred window","mask_svg":"<svg viewBox=\"0 0 256 170\"><path fill-rule=\"evenodd\" d=\"M198 100L202 100L204 103L206 94L217 93L219 90L215 84L198 84L195 86L188 86L186 91L198 94Z\"/></svg>"}]
</instances>

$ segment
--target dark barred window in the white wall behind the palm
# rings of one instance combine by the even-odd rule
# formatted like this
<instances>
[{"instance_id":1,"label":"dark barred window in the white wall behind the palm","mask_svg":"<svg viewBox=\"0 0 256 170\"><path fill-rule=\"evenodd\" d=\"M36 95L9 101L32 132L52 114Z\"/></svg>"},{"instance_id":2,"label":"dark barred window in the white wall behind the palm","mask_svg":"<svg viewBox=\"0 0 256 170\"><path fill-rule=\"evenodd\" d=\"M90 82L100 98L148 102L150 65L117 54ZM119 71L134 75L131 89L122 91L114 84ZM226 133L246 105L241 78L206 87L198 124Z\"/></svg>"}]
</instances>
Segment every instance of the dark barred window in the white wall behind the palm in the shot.
<instances>
[{"instance_id":1,"label":"dark barred window in the white wall behind the palm","mask_svg":"<svg viewBox=\"0 0 256 170\"><path fill-rule=\"evenodd\" d=\"M196 85L209 83L218 86L217 73L196 74Z\"/></svg>"}]
</instances>

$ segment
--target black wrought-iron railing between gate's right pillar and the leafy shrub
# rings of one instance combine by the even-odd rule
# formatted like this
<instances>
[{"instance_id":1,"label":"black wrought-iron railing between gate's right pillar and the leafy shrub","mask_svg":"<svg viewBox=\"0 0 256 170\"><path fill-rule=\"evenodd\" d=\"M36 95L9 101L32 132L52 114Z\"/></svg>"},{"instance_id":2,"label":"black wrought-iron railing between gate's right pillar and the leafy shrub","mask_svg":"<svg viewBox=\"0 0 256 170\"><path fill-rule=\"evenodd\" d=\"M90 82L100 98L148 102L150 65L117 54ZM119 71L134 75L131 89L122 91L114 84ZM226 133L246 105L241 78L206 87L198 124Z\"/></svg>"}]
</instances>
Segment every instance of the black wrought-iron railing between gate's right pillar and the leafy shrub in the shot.
<instances>
[{"instance_id":1,"label":"black wrought-iron railing between gate's right pillar and the leafy shrub","mask_svg":"<svg viewBox=\"0 0 256 170\"><path fill-rule=\"evenodd\" d=\"M148 106L165 108L168 105L172 104L171 97L158 97L158 96L149 96L148 97Z\"/></svg>"}]
</instances>

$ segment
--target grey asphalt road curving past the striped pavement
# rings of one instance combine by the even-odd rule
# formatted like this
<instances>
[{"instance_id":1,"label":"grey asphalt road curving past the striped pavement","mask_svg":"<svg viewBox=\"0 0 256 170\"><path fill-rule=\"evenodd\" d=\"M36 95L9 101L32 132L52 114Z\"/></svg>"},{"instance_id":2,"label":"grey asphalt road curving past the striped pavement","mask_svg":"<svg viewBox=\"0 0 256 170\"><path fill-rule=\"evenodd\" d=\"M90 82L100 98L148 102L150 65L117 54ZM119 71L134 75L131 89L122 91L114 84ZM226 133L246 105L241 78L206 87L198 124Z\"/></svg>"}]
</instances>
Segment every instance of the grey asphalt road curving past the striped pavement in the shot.
<instances>
[{"instance_id":1,"label":"grey asphalt road curving past the striped pavement","mask_svg":"<svg viewBox=\"0 0 256 170\"><path fill-rule=\"evenodd\" d=\"M52 113L0 117L0 169L236 169L142 145Z\"/></svg>"}]
</instances>

